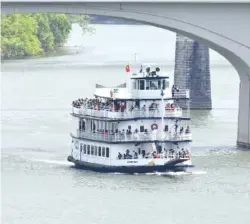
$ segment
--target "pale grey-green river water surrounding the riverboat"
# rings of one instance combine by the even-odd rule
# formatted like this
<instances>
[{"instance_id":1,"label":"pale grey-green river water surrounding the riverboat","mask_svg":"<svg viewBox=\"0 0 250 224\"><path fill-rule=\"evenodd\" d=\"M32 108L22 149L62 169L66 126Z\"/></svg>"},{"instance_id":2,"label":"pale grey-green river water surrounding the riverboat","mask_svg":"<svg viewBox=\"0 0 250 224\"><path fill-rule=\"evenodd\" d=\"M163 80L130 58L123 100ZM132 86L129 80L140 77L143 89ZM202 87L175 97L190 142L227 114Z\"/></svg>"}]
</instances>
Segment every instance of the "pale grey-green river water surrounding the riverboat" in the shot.
<instances>
[{"instance_id":1,"label":"pale grey-green river water surrounding the riverboat","mask_svg":"<svg viewBox=\"0 0 250 224\"><path fill-rule=\"evenodd\" d=\"M73 99L91 96L95 83L122 83L128 62L155 62L173 74L175 34L148 26L95 28L81 36L74 25L66 55L2 63L2 223L250 223L250 151L235 147L239 77L214 52L214 109L192 112L196 168L163 176L70 167Z\"/></svg>"}]
</instances>

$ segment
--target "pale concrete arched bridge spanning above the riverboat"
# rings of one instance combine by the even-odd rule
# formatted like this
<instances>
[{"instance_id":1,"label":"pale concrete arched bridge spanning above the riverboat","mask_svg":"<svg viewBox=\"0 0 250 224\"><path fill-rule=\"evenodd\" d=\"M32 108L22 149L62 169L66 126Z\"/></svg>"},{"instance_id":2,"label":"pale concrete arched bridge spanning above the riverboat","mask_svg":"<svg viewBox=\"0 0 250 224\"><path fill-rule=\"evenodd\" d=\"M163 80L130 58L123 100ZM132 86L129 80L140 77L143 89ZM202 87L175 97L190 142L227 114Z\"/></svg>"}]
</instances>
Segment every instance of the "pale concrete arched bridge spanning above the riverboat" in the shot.
<instances>
[{"instance_id":1,"label":"pale concrete arched bridge spanning above the riverboat","mask_svg":"<svg viewBox=\"0 0 250 224\"><path fill-rule=\"evenodd\" d=\"M1 9L2 14L51 12L124 18L199 40L223 55L239 74L237 143L250 148L249 0L2 0Z\"/></svg>"}]
</instances>

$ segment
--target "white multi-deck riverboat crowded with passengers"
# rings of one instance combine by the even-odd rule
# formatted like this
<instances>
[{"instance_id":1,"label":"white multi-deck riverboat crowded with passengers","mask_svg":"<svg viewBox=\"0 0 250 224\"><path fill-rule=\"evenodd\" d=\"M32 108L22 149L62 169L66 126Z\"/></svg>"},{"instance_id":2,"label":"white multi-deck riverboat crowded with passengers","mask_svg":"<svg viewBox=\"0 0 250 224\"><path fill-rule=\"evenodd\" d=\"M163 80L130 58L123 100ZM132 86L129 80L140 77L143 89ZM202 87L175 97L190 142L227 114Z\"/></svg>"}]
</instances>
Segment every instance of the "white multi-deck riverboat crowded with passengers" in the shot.
<instances>
[{"instance_id":1,"label":"white multi-deck riverboat crowded with passengers","mask_svg":"<svg viewBox=\"0 0 250 224\"><path fill-rule=\"evenodd\" d=\"M142 65L116 87L96 84L94 97L72 102L75 167L98 172L178 172L191 162L189 90L159 67Z\"/></svg>"}]
</instances>

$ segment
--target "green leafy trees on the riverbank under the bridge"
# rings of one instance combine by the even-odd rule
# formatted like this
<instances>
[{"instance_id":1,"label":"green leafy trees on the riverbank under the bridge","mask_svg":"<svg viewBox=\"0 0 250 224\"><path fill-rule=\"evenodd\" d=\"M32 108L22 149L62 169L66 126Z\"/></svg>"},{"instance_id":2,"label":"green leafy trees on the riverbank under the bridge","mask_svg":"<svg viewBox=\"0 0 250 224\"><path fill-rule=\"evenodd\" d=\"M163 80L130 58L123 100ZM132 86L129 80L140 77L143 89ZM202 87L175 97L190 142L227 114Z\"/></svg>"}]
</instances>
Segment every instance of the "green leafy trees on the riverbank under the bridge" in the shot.
<instances>
[{"instance_id":1,"label":"green leafy trees on the riverbank under the bridge","mask_svg":"<svg viewBox=\"0 0 250 224\"><path fill-rule=\"evenodd\" d=\"M65 43L72 23L83 32L92 31L85 15L51 13L12 14L1 16L1 57L40 55Z\"/></svg>"}]
</instances>

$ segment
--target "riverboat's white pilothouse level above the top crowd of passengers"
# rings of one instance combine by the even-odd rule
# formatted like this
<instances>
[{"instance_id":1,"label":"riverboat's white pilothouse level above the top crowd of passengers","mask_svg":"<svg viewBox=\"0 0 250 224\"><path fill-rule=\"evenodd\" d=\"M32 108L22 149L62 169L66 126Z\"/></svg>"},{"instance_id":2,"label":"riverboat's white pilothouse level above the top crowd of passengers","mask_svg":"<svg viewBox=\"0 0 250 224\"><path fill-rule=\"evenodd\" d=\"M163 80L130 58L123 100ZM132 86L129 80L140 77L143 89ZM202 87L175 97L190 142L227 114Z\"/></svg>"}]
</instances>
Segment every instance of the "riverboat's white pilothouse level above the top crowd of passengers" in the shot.
<instances>
[{"instance_id":1,"label":"riverboat's white pilothouse level above the top crowd of passengers","mask_svg":"<svg viewBox=\"0 0 250 224\"><path fill-rule=\"evenodd\" d=\"M113 100L158 100L189 99L188 89L174 86L170 77L163 74L159 67L141 66L139 72L129 72L127 82L114 88L96 85L94 95Z\"/></svg>"}]
</instances>

